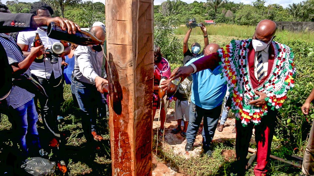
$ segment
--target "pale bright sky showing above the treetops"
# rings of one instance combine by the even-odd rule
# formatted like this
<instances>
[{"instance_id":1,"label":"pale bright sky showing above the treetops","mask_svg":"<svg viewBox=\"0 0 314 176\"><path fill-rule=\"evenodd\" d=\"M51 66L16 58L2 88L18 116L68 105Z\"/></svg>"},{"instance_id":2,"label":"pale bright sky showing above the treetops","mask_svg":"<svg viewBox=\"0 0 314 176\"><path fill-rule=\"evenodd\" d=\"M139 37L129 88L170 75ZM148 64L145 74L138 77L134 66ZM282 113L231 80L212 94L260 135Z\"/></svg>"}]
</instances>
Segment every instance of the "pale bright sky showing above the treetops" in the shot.
<instances>
[{"instance_id":1,"label":"pale bright sky showing above the treetops","mask_svg":"<svg viewBox=\"0 0 314 176\"><path fill-rule=\"evenodd\" d=\"M38 0L19 0L20 2L35 2L35 1L38 1ZM85 0L84 0L85 1ZM102 2L102 3L105 3L105 0L93 0L94 2ZM160 5L164 0L154 0L154 5ZM181 0L181 1L184 1L186 3L192 3L194 2L194 0ZM197 0L198 2L206 2L206 0ZM244 3L244 4L250 4L252 1L254 0L230 0L230 1L233 1L235 3ZM287 7L288 4L292 4L292 3L300 3L302 0L266 0L266 5L268 4L273 4L273 3L278 3L280 5L282 5L283 7ZM6 0L2 0L3 3L6 2Z\"/></svg>"}]
</instances>

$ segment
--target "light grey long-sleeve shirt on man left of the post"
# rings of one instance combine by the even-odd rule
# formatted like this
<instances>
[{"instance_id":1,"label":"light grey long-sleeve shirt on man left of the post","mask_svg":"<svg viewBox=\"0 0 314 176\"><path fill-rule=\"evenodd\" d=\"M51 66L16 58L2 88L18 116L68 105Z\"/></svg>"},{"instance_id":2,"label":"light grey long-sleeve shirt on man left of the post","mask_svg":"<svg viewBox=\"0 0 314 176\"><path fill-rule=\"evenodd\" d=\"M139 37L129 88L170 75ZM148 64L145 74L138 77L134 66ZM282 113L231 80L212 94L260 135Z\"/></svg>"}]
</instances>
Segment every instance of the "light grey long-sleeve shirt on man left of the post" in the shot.
<instances>
[{"instance_id":1,"label":"light grey long-sleeve shirt on man left of the post","mask_svg":"<svg viewBox=\"0 0 314 176\"><path fill-rule=\"evenodd\" d=\"M95 78L102 75L103 55L102 51L93 51L90 46L78 46L74 51L73 75L79 81L95 84Z\"/></svg>"}]
</instances>

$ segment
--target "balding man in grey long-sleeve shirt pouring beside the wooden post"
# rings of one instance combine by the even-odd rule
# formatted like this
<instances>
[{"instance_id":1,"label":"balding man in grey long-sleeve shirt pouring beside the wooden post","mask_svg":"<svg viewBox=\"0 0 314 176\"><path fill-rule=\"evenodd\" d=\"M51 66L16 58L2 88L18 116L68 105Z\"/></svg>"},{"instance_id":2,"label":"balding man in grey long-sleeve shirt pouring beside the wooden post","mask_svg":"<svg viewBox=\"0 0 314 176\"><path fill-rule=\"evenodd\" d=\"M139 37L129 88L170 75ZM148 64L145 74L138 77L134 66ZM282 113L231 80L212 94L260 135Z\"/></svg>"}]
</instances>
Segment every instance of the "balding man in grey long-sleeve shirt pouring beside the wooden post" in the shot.
<instances>
[{"instance_id":1,"label":"balding man in grey long-sleeve shirt pouring beside the wooden post","mask_svg":"<svg viewBox=\"0 0 314 176\"><path fill-rule=\"evenodd\" d=\"M102 27L92 27L89 32L104 43L106 33ZM102 85L108 84L108 81L101 77L102 48L100 45L78 46L74 51L74 58L71 91L82 111L84 135L87 142L93 142L94 139L101 141L103 137L97 134L95 129L97 107L101 103Z\"/></svg>"}]
</instances>

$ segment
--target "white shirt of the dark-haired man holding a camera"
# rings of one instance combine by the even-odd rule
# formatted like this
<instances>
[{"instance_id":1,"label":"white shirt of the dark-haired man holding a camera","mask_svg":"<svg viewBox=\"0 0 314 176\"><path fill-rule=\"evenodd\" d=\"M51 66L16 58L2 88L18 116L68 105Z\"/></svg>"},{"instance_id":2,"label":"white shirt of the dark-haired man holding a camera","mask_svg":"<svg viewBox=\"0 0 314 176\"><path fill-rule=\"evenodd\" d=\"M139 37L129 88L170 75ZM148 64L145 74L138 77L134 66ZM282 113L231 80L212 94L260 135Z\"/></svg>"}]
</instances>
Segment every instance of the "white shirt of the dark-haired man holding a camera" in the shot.
<instances>
[{"instance_id":1,"label":"white shirt of the dark-haired man holding a camera","mask_svg":"<svg viewBox=\"0 0 314 176\"><path fill-rule=\"evenodd\" d=\"M53 43L60 42L59 40L49 38L45 31L37 28L36 31L19 32L17 43L28 45L28 51L30 51L30 48L33 46L36 33L39 34L45 48L51 49ZM50 59L45 58L43 63L33 62L32 65L30 65L30 72L41 78L49 79L53 71L54 77L58 78L62 74L61 62L61 57L58 57L58 63L56 64L51 64Z\"/></svg>"}]
</instances>

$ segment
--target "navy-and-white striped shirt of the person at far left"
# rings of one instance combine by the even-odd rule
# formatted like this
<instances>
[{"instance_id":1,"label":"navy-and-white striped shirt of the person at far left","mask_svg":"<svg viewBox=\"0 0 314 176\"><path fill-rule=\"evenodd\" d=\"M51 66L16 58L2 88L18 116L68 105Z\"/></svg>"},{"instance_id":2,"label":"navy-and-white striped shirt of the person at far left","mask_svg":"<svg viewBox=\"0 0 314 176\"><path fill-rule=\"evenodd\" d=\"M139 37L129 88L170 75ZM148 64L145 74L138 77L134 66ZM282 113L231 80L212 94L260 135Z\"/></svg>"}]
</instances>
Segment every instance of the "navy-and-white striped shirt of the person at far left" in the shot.
<instances>
[{"instance_id":1,"label":"navy-and-white striped shirt of the person at far left","mask_svg":"<svg viewBox=\"0 0 314 176\"><path fill-rule=\"evenodd\" d=\"M7 34L0 34L0 43L3 45L3 48L7 53L10 65L24 60L23 53L19 50L18 45L16 44L12 37L8 36ZM30 75L30 70L28 69L25 73ZM30 93L29 91L26 91L25 89L22 89L18 86L12 86L11 92L9 96L6 98L6 100L8 106L17 108L30 101L34 96L35 96L34 94Z\"/></svg>"}]
</instances>

